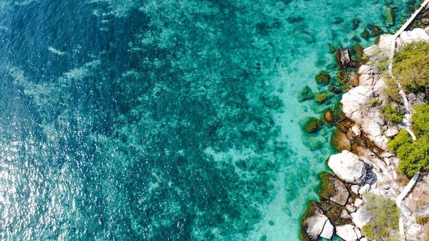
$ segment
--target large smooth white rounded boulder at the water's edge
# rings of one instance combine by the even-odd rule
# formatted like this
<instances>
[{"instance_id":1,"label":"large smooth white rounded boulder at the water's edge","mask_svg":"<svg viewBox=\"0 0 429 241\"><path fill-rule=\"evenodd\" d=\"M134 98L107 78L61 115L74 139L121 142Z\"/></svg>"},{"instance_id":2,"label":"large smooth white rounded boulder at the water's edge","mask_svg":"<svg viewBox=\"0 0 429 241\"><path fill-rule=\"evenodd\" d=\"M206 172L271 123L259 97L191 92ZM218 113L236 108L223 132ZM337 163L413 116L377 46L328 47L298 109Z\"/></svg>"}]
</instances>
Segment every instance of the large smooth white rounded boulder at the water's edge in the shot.
<instances>
[{"instance_id":1,"label":"large smooth white rounded boulder at the water's edge","mask_svg":"<svg viewBox=\"0 0 429 241\"><path fill-rule=\"evenodd\" d=\"M360 184L367 173L360 157L345 150L331 155L328 159L328 166L336 177L350 184Z\"/></svg>"}]
</instances>

